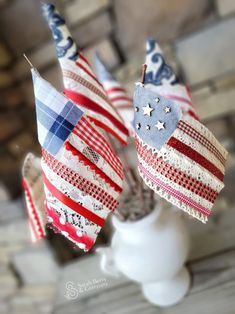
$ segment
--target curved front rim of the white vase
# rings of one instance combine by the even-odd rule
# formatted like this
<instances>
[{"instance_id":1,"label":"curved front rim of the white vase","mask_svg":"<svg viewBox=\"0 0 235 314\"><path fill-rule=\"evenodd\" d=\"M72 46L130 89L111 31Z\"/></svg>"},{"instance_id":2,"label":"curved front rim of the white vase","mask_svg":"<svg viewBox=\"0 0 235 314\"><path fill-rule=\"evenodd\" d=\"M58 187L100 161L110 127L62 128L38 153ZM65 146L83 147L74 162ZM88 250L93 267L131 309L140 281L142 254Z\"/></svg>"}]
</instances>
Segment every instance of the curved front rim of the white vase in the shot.
<instances>
[{"instance_id":1,"label":"curved front rim of the white vase","mask_svg":"<svg viewBox=\"0 0 235 314\"><path fill-rule=\"evenodd\" d=\"M121 221L117 217L112 217L113 226L118 230L125 230L125 229L136 229L136 228L143 228L149 225L152 221L156 220L162 211L162 207L157 206L149 213L148 215L144 216L143 218L136 220L136 221Z\"/></svg>"}]
</instances>

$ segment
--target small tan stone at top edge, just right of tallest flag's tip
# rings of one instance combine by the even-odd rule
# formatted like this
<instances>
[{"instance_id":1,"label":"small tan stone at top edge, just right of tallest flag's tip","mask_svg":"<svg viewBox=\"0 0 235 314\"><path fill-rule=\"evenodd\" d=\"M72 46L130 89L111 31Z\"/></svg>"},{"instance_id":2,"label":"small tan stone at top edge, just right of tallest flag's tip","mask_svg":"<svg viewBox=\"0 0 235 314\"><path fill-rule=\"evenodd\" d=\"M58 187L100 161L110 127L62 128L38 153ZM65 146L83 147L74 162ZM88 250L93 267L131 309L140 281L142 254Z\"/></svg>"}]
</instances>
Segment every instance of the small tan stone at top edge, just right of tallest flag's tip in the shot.
<instances>
[{"instance_id":1,"label":"small tan stone at top edge, just right of tallest flag's tip","mask_svg":"<svg viewBox=\"0 0 235 314\"><path fill-rule=\"evenodd\" d=\"M109 6L109 0L76 0L65 9L66 20L75 24Z\"/></svg>"}]
</instances>

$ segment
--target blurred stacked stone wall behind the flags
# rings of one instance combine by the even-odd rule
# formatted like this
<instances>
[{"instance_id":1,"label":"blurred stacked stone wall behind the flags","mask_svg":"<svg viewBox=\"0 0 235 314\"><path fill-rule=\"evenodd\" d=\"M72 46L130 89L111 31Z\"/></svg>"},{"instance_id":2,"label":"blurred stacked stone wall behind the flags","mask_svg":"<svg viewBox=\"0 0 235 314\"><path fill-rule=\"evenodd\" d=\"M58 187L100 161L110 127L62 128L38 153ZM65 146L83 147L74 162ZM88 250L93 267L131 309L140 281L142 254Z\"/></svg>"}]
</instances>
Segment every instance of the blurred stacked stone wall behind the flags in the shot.
<instances>
[{"instance_id":1,"label":"blurred stacked stone wall behind the flags","mask_svg":"<svg viewBox=\"0 0 235 314\"><path fill-rule=\"evenodd\" d=\"M145 38L158 39L168 61L189 83L199 114L229 149L227 167L232 169L234 0L53 2L91 62L96 49L130 93L140 77ZM61 266L46 241L30 244L20 197L22 160L28 151L39 152L30 69L23 53L62 88L40 1L0 0L0 312L51 313ZM226 200L220 206L226 207Z\"/></svg>"}]
</instances>

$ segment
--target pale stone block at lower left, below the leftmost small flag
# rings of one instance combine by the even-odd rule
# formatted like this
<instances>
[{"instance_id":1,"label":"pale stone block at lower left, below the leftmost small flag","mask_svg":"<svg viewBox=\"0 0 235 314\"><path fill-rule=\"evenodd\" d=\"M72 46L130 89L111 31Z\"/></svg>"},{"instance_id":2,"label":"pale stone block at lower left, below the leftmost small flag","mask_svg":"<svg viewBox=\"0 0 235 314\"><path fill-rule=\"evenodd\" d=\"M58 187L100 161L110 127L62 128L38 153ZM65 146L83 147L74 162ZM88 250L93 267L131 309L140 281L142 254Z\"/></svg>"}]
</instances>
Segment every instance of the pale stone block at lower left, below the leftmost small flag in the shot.
<instances>
[{"instance_id":1,"label":"pale stone block at lower left, below the leftmost small flag","mask_svg":"<svg viewBox=\"0 0 235 314\"><path fill-rule=\"evenodd\" d=\"M40 241L13 256L13 267L24 284L55 283L59 267L51 250Z\"/></svg>"}]
</instances>

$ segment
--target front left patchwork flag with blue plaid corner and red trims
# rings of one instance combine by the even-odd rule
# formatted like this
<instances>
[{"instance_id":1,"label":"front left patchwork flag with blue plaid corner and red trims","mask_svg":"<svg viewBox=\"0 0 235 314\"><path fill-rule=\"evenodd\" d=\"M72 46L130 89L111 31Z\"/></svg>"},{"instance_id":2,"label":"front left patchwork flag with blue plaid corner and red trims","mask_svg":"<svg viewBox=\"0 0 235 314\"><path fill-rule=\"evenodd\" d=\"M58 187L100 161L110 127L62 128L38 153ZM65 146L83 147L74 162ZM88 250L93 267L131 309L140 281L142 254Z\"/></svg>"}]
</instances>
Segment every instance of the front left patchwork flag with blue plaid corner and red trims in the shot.
<instances>
[{"instance_id":1,"label":"front left patchwork flag with blue plaid corner and red trims","mask_svg":"<svg viewBox=\"0 0 235 314\"><path fill-rule=\"evenodd\" d=\"M47 221L87 251L118 206L122 164L76 104L32 75Z\"/></svg>"}]
</instances>

